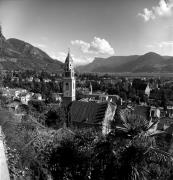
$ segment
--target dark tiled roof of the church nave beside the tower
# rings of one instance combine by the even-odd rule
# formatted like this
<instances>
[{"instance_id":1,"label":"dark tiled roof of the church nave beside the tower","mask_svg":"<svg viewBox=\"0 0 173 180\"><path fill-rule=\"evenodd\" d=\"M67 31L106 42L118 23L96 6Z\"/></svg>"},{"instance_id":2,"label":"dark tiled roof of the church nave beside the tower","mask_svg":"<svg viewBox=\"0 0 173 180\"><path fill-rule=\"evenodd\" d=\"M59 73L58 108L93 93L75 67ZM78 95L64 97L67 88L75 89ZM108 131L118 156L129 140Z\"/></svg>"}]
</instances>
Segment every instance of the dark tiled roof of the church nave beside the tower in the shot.
<instances>
[{"instance_id":1,"label":"dark tiled roof of the church nave beside the tower","mask_svg":"<svg viewBox=\"0 0 173 180\"><path fill-rule=\"evenodd\" d=\"M101 123L105 117L108 103L75 101L72 103L71 121L79 123Z\"/></svg>"}]
</instances>

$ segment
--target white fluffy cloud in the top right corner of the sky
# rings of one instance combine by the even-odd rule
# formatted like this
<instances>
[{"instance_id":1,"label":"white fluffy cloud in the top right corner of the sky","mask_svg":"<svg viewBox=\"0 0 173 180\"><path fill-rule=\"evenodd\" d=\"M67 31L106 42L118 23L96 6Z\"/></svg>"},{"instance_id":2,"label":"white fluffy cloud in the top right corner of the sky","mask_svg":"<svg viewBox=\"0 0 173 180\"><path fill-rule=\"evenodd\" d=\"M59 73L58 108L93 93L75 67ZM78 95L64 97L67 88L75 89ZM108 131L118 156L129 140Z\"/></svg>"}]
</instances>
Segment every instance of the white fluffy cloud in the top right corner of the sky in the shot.
<instances>
[{"instance_id":1,"label":"white fluffy cloud in the top right corner of the sky","mask_svg":"<svg viewBox=\"0 0 173 180\"><path fill-rule=\"evenodd\" d=\"M154 20L157 17L170 17L173 13L173 0L160 0L158 6L153 6L151 10L145 8L143 13L139 13L144 21Z\"/></svg>"}]
</instances>

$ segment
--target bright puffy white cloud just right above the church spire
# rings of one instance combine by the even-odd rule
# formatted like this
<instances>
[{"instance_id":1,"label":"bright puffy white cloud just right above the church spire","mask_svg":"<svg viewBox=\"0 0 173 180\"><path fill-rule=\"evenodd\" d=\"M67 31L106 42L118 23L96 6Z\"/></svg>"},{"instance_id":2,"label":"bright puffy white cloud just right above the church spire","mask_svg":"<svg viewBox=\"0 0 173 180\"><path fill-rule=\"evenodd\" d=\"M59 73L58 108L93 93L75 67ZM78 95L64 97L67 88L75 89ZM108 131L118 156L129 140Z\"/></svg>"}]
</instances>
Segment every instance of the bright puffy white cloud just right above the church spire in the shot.
<instances>
[{"instance_id":1,"label":"bright puffy white cloud just right above the church spire","mask_svg":"<svg viewBox=\"0 0 173 180\"><path fill-rule=\"evenodd\" d=\"M114 49L109 42L99 37L94 37L91 43L82 40L71 41L72 45L78 46L83 53L87 54L101 54L101 55L114 55Z\"/></svg>"}]
</instances>

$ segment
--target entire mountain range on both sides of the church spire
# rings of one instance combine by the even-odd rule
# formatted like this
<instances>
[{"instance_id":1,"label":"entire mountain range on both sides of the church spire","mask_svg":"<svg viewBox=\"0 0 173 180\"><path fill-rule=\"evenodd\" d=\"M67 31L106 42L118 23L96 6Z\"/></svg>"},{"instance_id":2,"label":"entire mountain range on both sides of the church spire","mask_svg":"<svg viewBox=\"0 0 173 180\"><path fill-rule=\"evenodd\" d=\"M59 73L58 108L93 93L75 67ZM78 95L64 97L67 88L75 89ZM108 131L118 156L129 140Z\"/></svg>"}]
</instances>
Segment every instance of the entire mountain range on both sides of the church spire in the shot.
<instances>
[{"instance_id":1,"label":"entire mountain range on both sides of the church spire","mask_svg":"<svg viewBox=\"0 0 173 180\"><path fill-rule=\"evenodd\" d=\"M63 63L27 42L14 38L6 39L0 31L0 69L58 73L63 71ZM144 55L95 58L87 65L78 66L76 70L101 73L171 73L173 57L149 52Z\"/></svg>"}]
</instances>

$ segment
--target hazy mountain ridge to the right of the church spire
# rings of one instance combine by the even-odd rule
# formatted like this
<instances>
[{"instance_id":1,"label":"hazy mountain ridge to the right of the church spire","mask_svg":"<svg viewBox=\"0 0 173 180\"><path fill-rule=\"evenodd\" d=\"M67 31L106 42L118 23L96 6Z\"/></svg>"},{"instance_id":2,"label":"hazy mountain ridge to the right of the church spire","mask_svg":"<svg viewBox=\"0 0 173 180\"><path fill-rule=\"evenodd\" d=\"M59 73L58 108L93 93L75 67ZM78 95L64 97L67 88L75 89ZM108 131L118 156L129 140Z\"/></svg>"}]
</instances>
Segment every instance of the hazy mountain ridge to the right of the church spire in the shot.
<instances>
[{"instance_id":1,"label":"hazy mountain ridge to the right of the church spire","mask_svg":"<svg viewBox=\"0 0 173 180\"><path fill-rule=\"evenodd\" d=\"M92 63L77 69L80 72L173 72L173 57L149 52L142 56L95 58Z\"/></svg>"}]
</instances>

